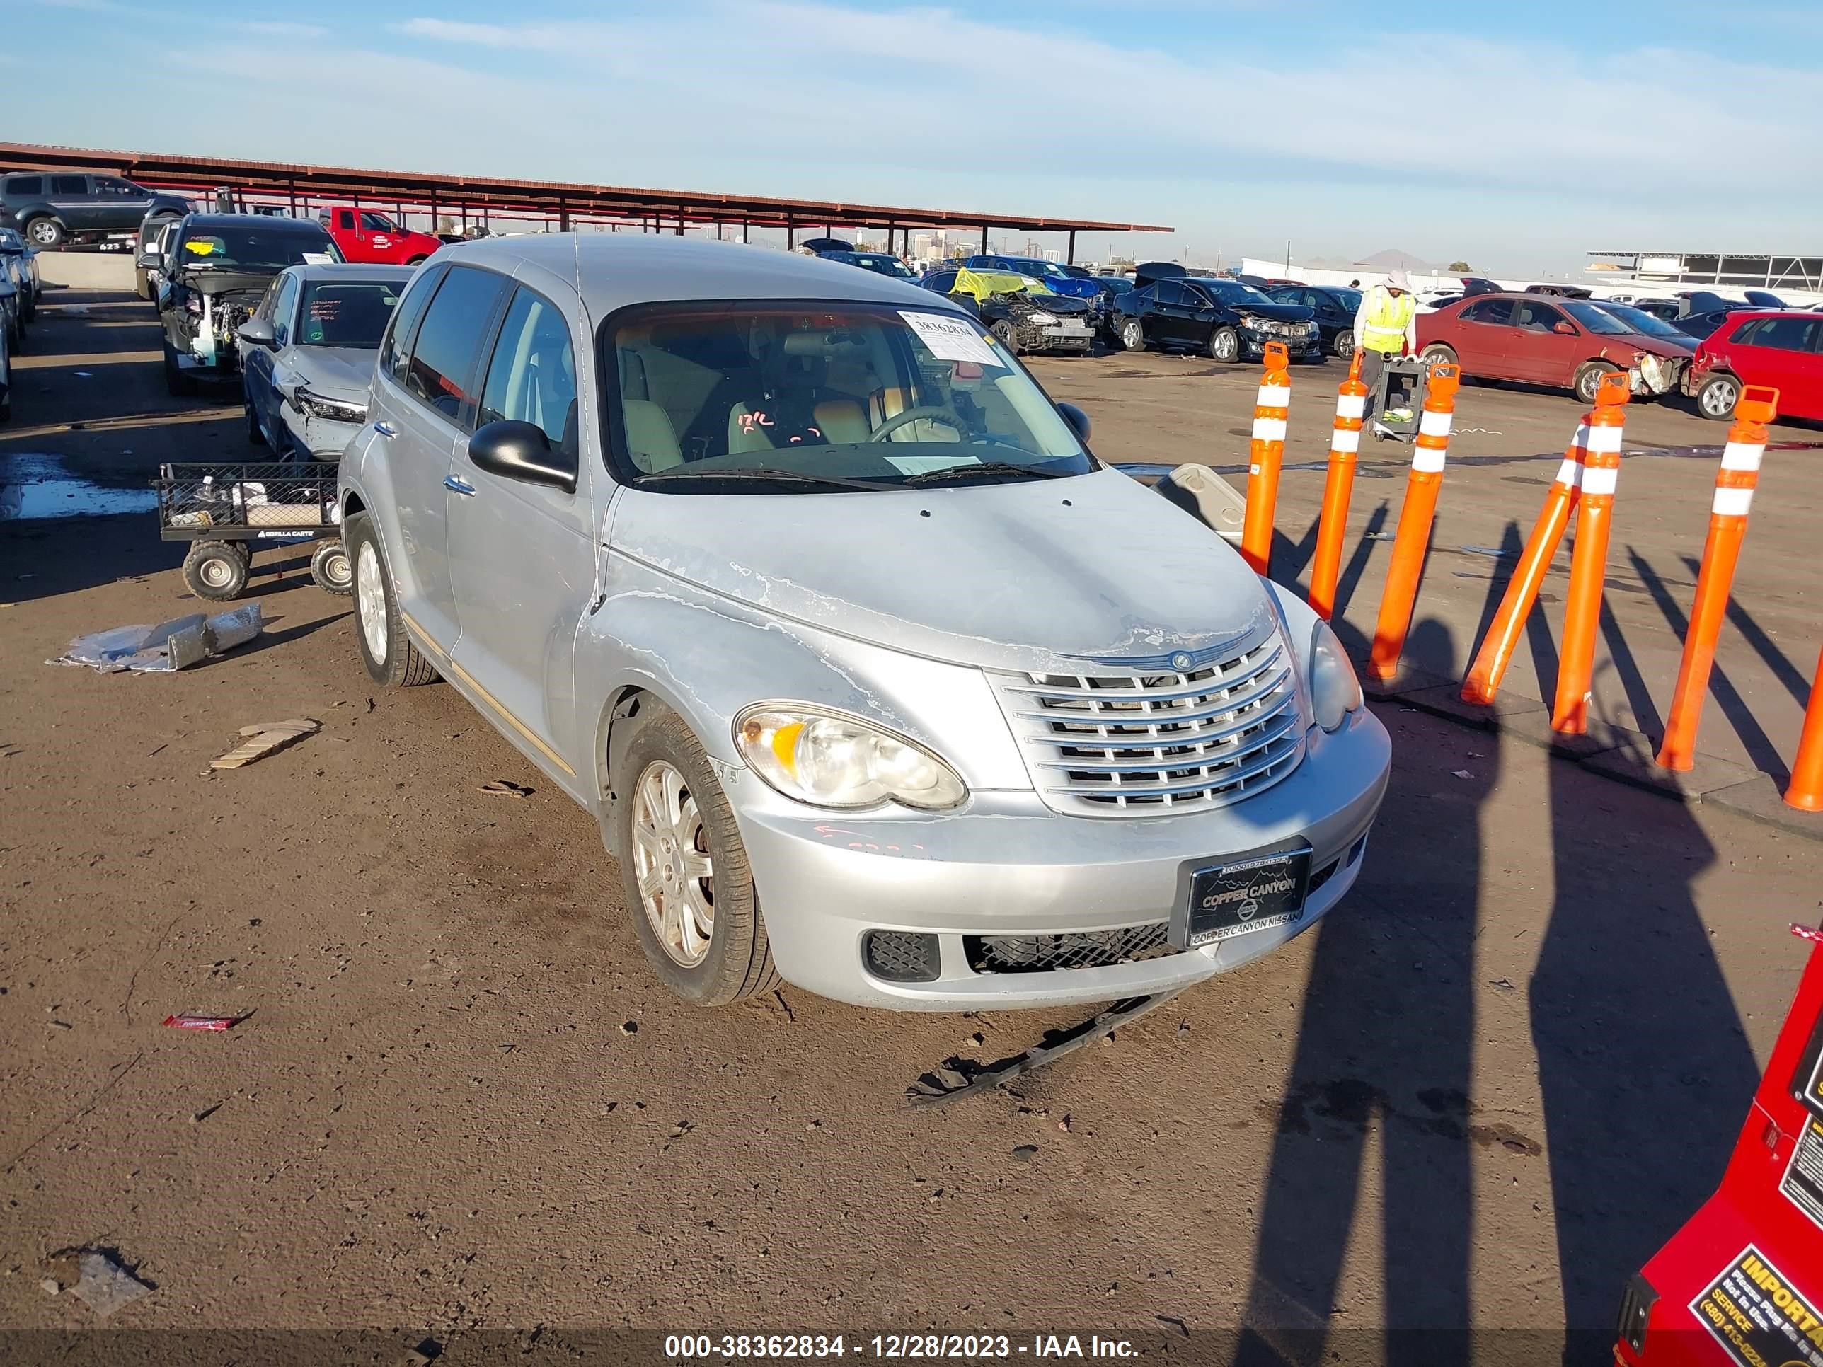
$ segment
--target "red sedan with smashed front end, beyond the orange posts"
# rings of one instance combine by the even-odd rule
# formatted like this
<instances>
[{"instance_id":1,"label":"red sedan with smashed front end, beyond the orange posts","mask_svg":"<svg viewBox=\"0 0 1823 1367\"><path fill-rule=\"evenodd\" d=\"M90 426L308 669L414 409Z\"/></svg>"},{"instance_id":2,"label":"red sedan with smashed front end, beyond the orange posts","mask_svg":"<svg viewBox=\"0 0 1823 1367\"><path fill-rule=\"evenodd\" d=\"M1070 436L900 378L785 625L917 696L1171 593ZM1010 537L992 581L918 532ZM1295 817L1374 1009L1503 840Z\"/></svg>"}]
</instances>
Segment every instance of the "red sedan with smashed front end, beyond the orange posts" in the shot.
<instances>
[{"instance_id":1,"label":"red sedan with smashed front end, beyond the orange posts","mask_svg":"<svg viewBox=\"0 0 1823 1367\"><path fill-rule=\"evenodd\" d=\"M1519 379L1595 403L1601 377L1624 370L1633 394L1677 388L1695 339L1624 304L1537 293L1478 293L1418 313L1418 348L1475 379Z\"/></svg>"}]
</instances>

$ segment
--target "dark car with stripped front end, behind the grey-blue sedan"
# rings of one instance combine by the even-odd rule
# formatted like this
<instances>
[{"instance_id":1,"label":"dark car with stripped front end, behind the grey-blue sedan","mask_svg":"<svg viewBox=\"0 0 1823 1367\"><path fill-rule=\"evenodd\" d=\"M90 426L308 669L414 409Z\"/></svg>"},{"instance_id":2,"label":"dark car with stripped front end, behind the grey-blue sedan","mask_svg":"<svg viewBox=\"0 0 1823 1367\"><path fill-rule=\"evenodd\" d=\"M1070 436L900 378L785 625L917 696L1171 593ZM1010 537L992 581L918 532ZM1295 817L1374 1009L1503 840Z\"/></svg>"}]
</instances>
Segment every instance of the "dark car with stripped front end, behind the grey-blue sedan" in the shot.
<instances>
[{"instance_id":1,"label":"dark car with stripped front end, behind the grey-blue sedan","mask_svg":"<svg viewBox=\"0 0 1823 1367\"><path fill-rule=\"evenodd\" d=\"M164 385L195 394L197 381L241 374L235 330L286 266L341 261L323 224L252 213L191 213L182 219L164 259L148 252L137 264L160 272L159 321L164 326Z\"/></svg>"}]
</instances>

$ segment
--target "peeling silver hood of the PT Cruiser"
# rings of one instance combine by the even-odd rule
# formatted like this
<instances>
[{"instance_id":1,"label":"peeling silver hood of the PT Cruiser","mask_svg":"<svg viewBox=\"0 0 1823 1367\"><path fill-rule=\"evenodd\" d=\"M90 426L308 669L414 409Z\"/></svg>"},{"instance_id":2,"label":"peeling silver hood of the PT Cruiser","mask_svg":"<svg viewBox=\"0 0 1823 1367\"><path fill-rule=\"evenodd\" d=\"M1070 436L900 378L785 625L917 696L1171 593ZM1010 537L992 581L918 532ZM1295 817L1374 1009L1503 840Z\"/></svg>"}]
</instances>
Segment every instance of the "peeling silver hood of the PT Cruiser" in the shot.
<instances>
[{"instance_id":1,"label":"peeling silver hood of the PT Cruiser","mask_svg":"<svg viewBox=\"0 0 1823 1367\"><path fill-rule=\"evenodd\" d=\"M1274 618L1220 536L1117 470L890 494L629 490L609 545L780 618L983 669L1085 673Z\"/></svg>"}]
</instances>

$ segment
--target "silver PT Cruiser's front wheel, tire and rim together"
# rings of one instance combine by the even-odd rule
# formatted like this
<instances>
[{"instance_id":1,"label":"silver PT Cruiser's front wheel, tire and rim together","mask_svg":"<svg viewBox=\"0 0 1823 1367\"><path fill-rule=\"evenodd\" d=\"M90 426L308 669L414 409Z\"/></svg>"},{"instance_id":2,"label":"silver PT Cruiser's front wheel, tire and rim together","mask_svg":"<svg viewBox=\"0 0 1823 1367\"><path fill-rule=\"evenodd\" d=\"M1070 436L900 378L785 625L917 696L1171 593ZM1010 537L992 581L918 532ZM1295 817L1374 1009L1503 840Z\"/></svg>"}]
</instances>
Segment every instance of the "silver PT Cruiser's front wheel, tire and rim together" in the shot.
<instances>
[{"instance_id":1,"label":"silver PT Cruiser's front wheel, tire and rim together","mask_svg":"<svg viewBox=\"0 0 1823 1367\"><path fill-rule=\"evenodd\" d=\"M778 986L747 849L702 742L647 700L611 776L620 877L640 948L695 1006Z\"/></svg>"}]
</instances>

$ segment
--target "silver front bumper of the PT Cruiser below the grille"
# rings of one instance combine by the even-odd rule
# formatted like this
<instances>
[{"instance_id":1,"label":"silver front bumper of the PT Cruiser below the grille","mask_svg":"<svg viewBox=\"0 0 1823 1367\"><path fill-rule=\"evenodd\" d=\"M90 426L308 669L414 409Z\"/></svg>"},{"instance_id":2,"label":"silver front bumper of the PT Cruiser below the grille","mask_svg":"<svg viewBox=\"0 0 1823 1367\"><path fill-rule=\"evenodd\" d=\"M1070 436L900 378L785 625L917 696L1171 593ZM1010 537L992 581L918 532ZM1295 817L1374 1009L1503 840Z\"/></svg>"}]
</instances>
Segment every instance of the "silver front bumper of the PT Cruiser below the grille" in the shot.
<instances>
[{"instance_id":1,"label":"silver front bumper of the PT Cruiser below the grille","mask_svg":"<svg viewBox=\"0 0 1823 1367\"><path fill-rule=\"evenodd\" d=\"M1034 793L977 793L952 817L811 811L738 773L727 786L786 981L857 1006L964 1012L1169 992L1240 968L1320 920L1360 873L1385 795L1391 742L1365 709L1276 786L1231 807L1159 818L1061 817ZM1327 879L1303 915L1139 962L975 971L968 937L1072 935L1170 920L1189 871L1287 840ZM1331 868L1333 866L1333 868ZM937 935L932 982L866 968L870 930Z\"/></svg>"}]
</instances>

